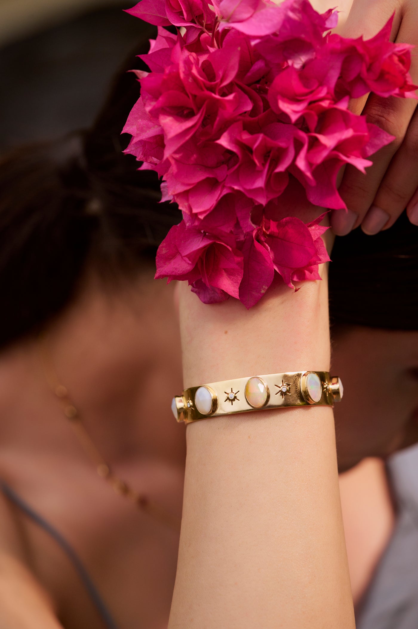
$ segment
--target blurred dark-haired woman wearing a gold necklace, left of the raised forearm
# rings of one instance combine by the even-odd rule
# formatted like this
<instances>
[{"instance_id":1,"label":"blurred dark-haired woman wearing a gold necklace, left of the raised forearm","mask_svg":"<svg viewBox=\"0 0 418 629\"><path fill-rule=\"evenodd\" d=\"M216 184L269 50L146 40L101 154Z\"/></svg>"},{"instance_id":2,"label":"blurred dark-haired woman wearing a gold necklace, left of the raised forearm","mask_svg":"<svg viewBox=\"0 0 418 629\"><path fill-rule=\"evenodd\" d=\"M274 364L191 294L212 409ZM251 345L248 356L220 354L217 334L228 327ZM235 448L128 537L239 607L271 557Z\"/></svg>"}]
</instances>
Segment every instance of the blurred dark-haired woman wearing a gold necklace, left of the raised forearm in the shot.
<instances>
[{"instance_id":1,"label":"blurred dark-haired woman wearing a gold necklace, left of the raised forearm","mask_svg":"<svg viewBox=\"0 0 418 629\"><path fill-rule=\"evenodd\" d=\"M158 182L121 153L136 91L133 75L121 73L91 132L1 163L0 283L9 308L0 342L2 626L93 629L114 626L113 616L122 627L167 626L185 443L170 411L182 387L173 291L153 281L152 269L178 210L159 205ZM55 395L55 377L101 454L140 494L138 505L116 480L119 494L97 475L85 435L72 433L74 420ZM140 381L150 391L146 404ZM17 497L74 547L100 594Z\"/></svg>"}]
</instances>

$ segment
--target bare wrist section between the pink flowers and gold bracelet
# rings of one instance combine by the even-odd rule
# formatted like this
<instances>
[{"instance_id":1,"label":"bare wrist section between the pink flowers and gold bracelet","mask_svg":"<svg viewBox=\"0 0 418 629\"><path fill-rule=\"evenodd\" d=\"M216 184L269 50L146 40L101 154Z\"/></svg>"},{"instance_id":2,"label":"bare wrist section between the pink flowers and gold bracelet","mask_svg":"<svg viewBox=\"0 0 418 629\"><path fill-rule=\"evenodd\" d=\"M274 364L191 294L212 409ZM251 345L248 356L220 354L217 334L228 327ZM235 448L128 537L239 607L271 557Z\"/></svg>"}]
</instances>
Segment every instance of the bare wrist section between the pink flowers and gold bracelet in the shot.
<instances>
[{"instance_id":1,"label":"bare wrist section between the pink flowers and gold bracelet","mask_svg":"<svg viewBox=\"0 0 418 629\"><path fill-rule=\"evenodd\" d=\"M296 292L280 285L250 311L234 299L207 306L179 286L184 386L299 370L328 370L327 269Z\"/></svg>"}]
</instances>

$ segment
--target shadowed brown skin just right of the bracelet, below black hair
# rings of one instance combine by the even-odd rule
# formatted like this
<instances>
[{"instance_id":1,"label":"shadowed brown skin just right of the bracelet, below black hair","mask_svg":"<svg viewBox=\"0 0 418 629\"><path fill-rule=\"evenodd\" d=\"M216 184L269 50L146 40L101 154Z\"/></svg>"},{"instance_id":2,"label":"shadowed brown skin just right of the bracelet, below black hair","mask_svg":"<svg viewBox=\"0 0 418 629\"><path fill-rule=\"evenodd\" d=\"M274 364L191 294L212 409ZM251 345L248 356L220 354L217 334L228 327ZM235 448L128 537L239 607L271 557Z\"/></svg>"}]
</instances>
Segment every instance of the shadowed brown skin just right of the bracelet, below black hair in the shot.
<instances>
[{"instance_id":1,"label":"shadowed brown skin just right of the bracelet, below black hair","mask_svg":"<svg viewBox=\"0 0 418 629\"><path fill-rule=\"evenodd\" d=\"M333 371L345 387L344 404L335 412L340 470L417 442L417 368L418 332L337 331Z\"/></svg>"}]
</instances>

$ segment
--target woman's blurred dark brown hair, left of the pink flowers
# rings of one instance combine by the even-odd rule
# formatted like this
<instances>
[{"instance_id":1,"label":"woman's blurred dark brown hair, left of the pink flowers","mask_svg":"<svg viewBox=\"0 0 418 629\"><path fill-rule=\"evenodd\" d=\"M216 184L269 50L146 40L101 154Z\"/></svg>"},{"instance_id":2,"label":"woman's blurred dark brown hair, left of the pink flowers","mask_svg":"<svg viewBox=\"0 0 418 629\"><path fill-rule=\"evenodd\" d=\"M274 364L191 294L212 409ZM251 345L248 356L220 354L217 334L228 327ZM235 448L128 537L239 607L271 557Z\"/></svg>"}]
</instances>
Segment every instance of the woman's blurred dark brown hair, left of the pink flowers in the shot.
<instances>
[{"instance_id":1,"label":"woman's blurred dark brown hair, left of the pink flowers","mask_svg":"<svg viewBox=\"0 0 418 629\"><path fill-rule=\"evenodd\" d=\"M136 55L150 36L144 27L90 130L0 159L0 347L60 313L87 267L107 278L137 272L181 219L177 206L159 203L157 175L123 154L121 130L140 96L127 70L145 69Z\"/></svg>"}]
</instances>

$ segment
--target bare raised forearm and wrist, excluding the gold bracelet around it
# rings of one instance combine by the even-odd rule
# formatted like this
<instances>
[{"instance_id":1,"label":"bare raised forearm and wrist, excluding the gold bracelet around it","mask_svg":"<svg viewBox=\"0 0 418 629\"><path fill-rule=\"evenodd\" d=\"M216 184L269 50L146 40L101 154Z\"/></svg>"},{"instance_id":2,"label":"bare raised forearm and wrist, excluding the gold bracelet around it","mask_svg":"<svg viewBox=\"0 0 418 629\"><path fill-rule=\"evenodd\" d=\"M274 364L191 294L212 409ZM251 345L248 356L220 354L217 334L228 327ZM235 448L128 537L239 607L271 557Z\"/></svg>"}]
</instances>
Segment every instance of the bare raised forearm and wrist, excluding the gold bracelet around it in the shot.
<instances>
[{"instance_id":1,"label":"bare raised forearm and wrist, excluding the gold bracelet around it","mask_svg":"<svg viewBox=\"0 0 418 629\"><path fill-rule=\"evenodd\" d=\"M246 312L182 288L185 386L326 370L326 282ZM184 518L170 628L354 626L331 409L187 428Z\"/></svg>"}]
</instances>

